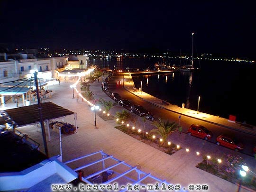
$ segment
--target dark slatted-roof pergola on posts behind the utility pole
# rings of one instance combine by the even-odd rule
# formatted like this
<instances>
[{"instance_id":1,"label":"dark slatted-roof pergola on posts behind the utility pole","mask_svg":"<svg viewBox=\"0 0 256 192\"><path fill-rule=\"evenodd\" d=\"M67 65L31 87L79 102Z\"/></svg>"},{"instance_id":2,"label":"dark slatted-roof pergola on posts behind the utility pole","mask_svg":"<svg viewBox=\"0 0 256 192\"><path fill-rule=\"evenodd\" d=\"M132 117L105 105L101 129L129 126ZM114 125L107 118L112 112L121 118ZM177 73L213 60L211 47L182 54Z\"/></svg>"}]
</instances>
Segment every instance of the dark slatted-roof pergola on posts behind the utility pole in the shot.
<instances>
[{"instance_id":1,"label":"dark slatted-roof pergola on posts behind the utility pole","mask_svg":"<svg viewBox=\"0 0 256 192\"><path fill-rule=\"evenodd\" d=\"M64 118L65 116L74 114L74 124L77 131L76 119L77 113L67 110L53 102L44 102L42 105L42 116L43 120L47 123L48 137L51 140L49 120ZM41 122L40 112L38 109L38 104L29 105L25 107L18 107L9 110L0 111L1 124L4 125L8 123L9 125L15 127L23 127L27 125L34 125Z\"/></svg>"}]
</instances>

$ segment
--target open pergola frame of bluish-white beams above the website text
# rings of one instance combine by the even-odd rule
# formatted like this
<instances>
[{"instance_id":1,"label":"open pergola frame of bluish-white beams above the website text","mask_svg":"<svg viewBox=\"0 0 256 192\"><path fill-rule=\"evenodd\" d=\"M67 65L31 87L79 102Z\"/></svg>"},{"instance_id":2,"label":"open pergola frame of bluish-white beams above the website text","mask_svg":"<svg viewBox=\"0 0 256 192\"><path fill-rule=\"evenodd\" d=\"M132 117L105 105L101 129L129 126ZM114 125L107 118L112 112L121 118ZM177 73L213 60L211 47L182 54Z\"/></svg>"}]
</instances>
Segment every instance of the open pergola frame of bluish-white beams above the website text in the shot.
<instances>
[{"instance_id":1,"label":"open pergola frame of bluish-white beams above the website text","mask_svg":"<svg viewBox=\"0 0 256 192\"><path fill-rule=\"evenodd\" d=\"M64 164L72 164L76 161L79 161L80 165L82 162L87 163L73 169L73 171L85 173L86 175L81 175L80 180L91 184L92 186L95 184L105 186L112 184L113 187L119 188L119 192L126 192L130 191L127 185L127 183L129 183L132 185L132 187L134 187L134 189L137 187L137 189L135 189L136 191L155 191L155 183L158 183L159 188L165 185L167 191L168 189L171 191L175 190L170 189L170 187L173 187L174 184L168 183L166 180L161 180L150 173L147 174L137 169L136 166L128 165L124 161L116 159L113 157L113 155L104 153L102 150L89 155L77 157L70 161L64 162ZM115 185L114 183L118 183L119 186ZM99 190L103 191L101 189ZM181 187L181 192L187 191L183 190L183 187Z\"/></svg>"}]
</instances>

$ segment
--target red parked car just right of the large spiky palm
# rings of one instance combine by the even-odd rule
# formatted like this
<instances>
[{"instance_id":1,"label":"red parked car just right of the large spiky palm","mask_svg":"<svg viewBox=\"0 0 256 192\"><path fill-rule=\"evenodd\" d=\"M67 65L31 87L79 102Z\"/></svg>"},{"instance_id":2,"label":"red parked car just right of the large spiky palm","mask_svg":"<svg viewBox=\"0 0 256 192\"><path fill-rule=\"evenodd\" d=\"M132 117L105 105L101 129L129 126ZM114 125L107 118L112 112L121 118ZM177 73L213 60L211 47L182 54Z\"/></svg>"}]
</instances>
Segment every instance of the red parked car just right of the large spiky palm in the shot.
<instances>
[{"instance_id":1,"label":"red parked car just right of the large spiky palm","mask_svg":"<svg viewBox=\"0 0 256 192\"><path fill-rule=\"evenodd\" d=\"M201 125L196 125L196 124L192 124L188 128L187 133L189 135L199 137L199 138L203 138L205 140L209 140L212 137L212 132L211 131L209 131L207 128L205 128Z\"/></svg>"}]
</instances>

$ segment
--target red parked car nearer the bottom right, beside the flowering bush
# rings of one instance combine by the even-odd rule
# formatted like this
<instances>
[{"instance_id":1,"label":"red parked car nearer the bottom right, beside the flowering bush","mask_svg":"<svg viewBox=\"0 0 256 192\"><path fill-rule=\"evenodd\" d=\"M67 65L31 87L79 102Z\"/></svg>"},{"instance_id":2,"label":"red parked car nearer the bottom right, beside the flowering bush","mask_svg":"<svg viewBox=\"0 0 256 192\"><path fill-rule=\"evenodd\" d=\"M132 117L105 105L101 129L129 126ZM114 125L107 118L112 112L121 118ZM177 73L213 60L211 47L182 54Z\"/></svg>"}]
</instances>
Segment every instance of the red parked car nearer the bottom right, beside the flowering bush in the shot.
<instances>
[{"instance_id":1,"label":"red parked car nearer the bottom right, beside the flowering bush","mask_svg":"<svg viewBox=\"0 0 256 192\"><path fill-rule=\"evenodd\" d=\"M244 145L238 142L237 139L232 138L230 136L226 136L226 135L220 135L219 137L217 137L216 144L220 146L226 146L235 151L239 151L244 148Z\"/></svg>"}]
</instances>

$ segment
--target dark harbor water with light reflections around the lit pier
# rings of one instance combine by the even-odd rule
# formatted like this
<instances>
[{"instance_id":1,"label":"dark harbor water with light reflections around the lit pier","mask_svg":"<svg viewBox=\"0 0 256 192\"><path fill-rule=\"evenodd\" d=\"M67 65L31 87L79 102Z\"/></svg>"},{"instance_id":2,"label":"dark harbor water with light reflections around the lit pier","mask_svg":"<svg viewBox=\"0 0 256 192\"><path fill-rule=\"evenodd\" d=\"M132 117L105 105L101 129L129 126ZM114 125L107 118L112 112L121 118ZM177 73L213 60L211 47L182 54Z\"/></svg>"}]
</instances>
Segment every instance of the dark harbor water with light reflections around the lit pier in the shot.
<instances>
[{"instance_id":1,"label":"dark harbor water with light reflections around the lit pier","mask_svg":"<svg viewBox=\"0 0 256 192\"><path fill-rule=\"evenodd\" d=\"M89 60L101 68L116 70L144 70L155 63L179 65L175 59L109 58ZM182 61L184 64L184 61ZM232 61L195 61L200 70L166 74L133 76L135 86L162 100L192 110L256 125L256 64ZM200 96L200 100L199 100ZM199 105L198 105L199 104Z\"/></svg>"}]
</instances>

